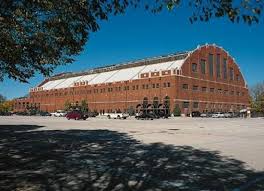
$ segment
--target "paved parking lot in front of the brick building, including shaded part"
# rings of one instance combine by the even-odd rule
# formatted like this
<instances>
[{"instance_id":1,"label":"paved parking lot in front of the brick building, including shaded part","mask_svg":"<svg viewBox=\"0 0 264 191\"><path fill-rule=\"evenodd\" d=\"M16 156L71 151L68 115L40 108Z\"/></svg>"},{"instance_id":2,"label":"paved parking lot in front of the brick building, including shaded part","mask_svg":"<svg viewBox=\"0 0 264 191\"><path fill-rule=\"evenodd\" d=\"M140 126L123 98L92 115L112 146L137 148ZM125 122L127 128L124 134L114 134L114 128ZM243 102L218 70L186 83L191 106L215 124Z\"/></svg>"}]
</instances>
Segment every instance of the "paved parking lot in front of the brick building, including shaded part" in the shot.
<instances>
[{"instance_id":1,"label":"paved parking lot in front of the brick building, including shaded part","mask_svg":"<svg viewBox=\"0 0 264 191\"><path fill-rule=\"evenodd\" d=\"M14 154L13 158L11 157L12 160L23 159L25 155L29 157L29 162L34 156L29 156L28 153L31 155L40 154L38 157L45 154L44 159L38 158L38 160L41 161L40 164L34 167L30 166L29 169L36 168L34 170L40 174L41 172L39 171L42 170L43 173L47 173L49 176L51 176L51 174L48 172L54 172L56 165L53 166L50 164L52 168L48 170L40 169L40 167L44 165L44 163L49 163L50 160L50 163L52 163L52 161L57 161L56 157L59 156L55 156L55 153L62 152L60 157L63 156L63 158L60 158L60 160L66 161L65 163L63 162L63 165L72 163L70 165L72 168L76 163L83 161L86 157L89 159L85 159L86 162L88 160L88 166L93 166L95 164L99 165L102 162L101 166L106 165L105 168L112 169L114 167L114 175L111 170L102 172L102 174L106 176L104 177L105 181L108 176L114 177L114 182L109 180L109 183L107 179L106 185L102 184L102 182L100 183L100 181L103 180L98 179L98 177L102 175L100 174L101 172L99 175L98 171L102 169L100 170L99 168L98 170L97 166L89 172L92 174L95 173L94 176L97 177L96 180L91 180L94 181L95 190L107 190L106 188L109 188L107 187L109 184L113 185L111 185L111 189L108 190L127 190L126 186L129 188L135 186L138 190L141 190L139 188L144 188L142 190L147 190L147 188L151 190L152 186L156 184L157 186L155 188L158 187L160 190L174 190L175 187L183 189L186 186L188 186L186 188L196 188L196 190L223 190L222 188L229 188L227 190L230 190L230 188L235 189L248 183L249 180L254 182L254 178L260 176L258 173L261 174L264 170L263 118L213 119L180 117L156 120L135 120L134 118L118 120L97 117L88 118L86 121L76 121L67 120L62 117L8 116L0 118L0 135L0 148L2 149L0 173L4 172L4 166L10 165L10 162L4 161L3 157L3 155L7 154L5 153L7 150L12 151ZM9 141L12 142L12 144ZM25 149L23 144L25 148L28 148ZM33 149L33 152L32 148L34 145L39 147ZM62 148L62 145L65 147ZM67 150L71 147L72 149L70 149L70 151ZM63 151L63 149L67 151ZM84 154L83 152L85 149L89 149L89 153ZM92 149L92 151L90 151L90 149ZM43 153L44 150L45 153ZM95 152L96 154L90 156L90 152ZM110 153L114 156L111 155L110 157ZM49 155L51 159L49 159ZM98 155L100 157L96 158ZM73 160L78 158L79 162ZM95 161L92 160L94 158L96 158ZM10 160L10 158L8 159ZM138 166L141 164L143 166ZM177 166L179 164L181 165ZM186 169L182 169L185 165L189 165L188 168L186 166ZM79 164L79 166L77 165L74 167L71 173L74 174L75 170L79 169L80 166ZM200 170L196 169L198 167ZM47 164L46 168L48 168ZM57 168L58 166L56 169ZM149 170L148 168L154 169ZM210 170L209 172L203 172L206 171L206 169L210 169L212 172ZM25 171L26 169L23 170ZM131 174L124 174L130 170ZM156 172L156 170L158 171ZM62 171L66 173L65 169ZM146 171L145 174L144 171ZM176 171L177 173L181 173L177 174L177 180L181 179L181 181L175 183L175 174L171 173L176 173ZM165 174L157 175L157 173ZM130 177L132 174L133 176ZM189 176L187 178L188 180L185 179L186 177L183 177L184 174ZM200 178L197 178L196 175L197 177L199 175ZM9 175L6 176L9 177ZM70 175L67 174L67 177L68 176ZM86 177L87 174L84 173L80 176ZM118 177L120 178L120 176L126 177L127 179L119 181ZM144 181L142 182L143 176L150 177L143 179ZM152 176L155 176L155 178ZM205 179L201 178L201 176L205 177ZM232 177L232 180L229 180L228 177ZM60 178L61 177L56 177L56 180L60 180ZM193 178L192 183L189 182L191 178ZM6 179L8 179L8 181L14 180L12 176ZM214 182L214 179L217 180L218 183ZM81 183L79 183L78 180L79 179L72 178L70 180L73 181L71 182L72 185L69 182L65 183L65 185L69 184L70 190L73 188L71 187L73 185L83 185L83 182L81 181ZM61 182L63 181L66 180L61 180ZM207 184L210 184L210 181L210 186L212 187ZM59 181L55 182L56 184L61 183ZM201 182L205 184L201 184ZM257 181L256 184L258 184L258 187L255 188L263 188L261 187L264 185L263 183L264 179ZM123 186L121 186L121 184ZM3 178L0 178L0 188L3 185ZM41 190L40 188L43 186L42 183L37 181L37 185L39 186L39 190ZM23 186L25 185L21 187L23 188ZM56 186L58 185L54 183L54 188ZM101 186L102 189L99 189L97 186ZM120 186L120 188L118 186ZM252 188L250 188L250 190L251 189Z\"/></svg>"}]
</instances>

